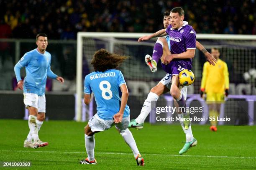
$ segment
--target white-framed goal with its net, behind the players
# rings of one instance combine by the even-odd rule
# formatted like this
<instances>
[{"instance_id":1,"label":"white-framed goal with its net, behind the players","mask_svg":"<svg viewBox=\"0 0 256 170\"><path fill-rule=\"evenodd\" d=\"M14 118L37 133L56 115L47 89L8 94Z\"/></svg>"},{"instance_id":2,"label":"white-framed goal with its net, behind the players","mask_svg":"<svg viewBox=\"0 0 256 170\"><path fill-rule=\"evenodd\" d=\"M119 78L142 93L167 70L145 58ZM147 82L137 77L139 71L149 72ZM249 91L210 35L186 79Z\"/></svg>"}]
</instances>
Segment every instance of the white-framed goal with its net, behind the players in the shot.
<instances>
[{"instance_id":1,"label":"white-framed goal with its net, behind the players","mask_svg":"<svg viewBox=\"0 0 256 170\"><path fill-rule=\"evenodd\" d=\"M128 56L129 58L121 65L122 71L127 86L129 89L128 104L131 109L131 118L137 117L141 111L144 100L148 92L154 87L166 73L158 64L158 71L151 73L145 63L145 55L152 55L154 43L156 39L146 42L138 43L138 37L148 35L143 33L85 33L77 34L77 96L83 97L83 82L84 76L94 71L90 61L95 51L100 48L105 48L111 53L118 53ZM251 101L253 98L247 95L256 94L256 36L246 35L211 35L211 34L197 34L197 41L202 43L210 52L212 47L220 50L220 58L228 65L229 79L230 79L230 94L235 95L236 100ZM192 71L195 74L195 82L188 88L189 96L197 98L200 97L200 83L202 78L202 66L206 62L205 56L202 52L196 50L195 58L192 60ZM214 77L213 77L214 79ZM197 94L197 95L196 95ZM240 95L240 96L238 96ZM234 97L234 96L233 96ZM240 97L240 98L239 98ZM78 99L78 98L77 98ZM157 102L158 105L166 105L166 100L172 100L165 96L160 97ZM79 99L78 99L79 100ZM231 96L228 100L233 100ZM252 124L254 121L255 110L248 114L248 110L252 109L249 104L246 109L242 109L245 113L234 113L232 106L226 104L222 107L222 116L229 114L231 117L241 117L244 114L242 122L232 122L230 124ZM254 101L253 101L254 102ZM231 102L232 105L232 102ZM77 120L81 120L82 115L81 100L77 102ZM223 109L224 108L224 109ZM239 110L239 109L237 109ZM230 113L232 112L232 113ZM240 112L240 111L239 111ZM253 117L252 117L253 116ZM235 119L235 118L234 118ZM148 118L149 121L150 117ZM154 122L154 121L153 121ZM206 123L206 122L200 122Z\"/></svg>"}]
</instances>

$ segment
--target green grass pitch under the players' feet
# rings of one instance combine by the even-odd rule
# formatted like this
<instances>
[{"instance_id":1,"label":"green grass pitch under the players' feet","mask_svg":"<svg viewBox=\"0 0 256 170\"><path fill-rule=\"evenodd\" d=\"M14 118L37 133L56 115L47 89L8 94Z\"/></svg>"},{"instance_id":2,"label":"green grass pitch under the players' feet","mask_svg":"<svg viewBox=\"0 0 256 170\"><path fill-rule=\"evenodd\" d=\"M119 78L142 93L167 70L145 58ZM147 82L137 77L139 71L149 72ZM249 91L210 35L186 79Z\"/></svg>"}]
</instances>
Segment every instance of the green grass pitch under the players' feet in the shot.
<instances>
[{"instance_id":1,"label":"green grass pitch under the players' feet","mask_svg":"<svg viewBox=\"0 0 256 170\"><path fill-rule=\"evenodd\" d=\"M219 126L211 132L209 125L193 125L198 141L184 155L179 155L185 134L180 125L145 124L142 130L131 129L145 166L138 167L132 151L112 127L95 134L97 165L81 165L86 157L84 126L73 121L44 122L39 132L47 147L24 148L28 121L0 120L0 167L3 162L31 162L17 169L256 169L256 126Z\"/></svg>"}]
</instances>

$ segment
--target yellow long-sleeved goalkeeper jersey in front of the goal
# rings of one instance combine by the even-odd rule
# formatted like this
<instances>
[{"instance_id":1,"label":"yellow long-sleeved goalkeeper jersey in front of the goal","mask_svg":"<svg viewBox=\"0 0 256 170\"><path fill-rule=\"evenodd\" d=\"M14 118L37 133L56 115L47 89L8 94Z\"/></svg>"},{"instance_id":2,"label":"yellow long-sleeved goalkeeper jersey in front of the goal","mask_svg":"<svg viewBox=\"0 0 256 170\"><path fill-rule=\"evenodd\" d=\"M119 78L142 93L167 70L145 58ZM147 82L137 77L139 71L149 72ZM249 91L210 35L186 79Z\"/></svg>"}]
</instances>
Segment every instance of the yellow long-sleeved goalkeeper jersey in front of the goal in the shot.
<instances>
[{"instance_id":1,"label":"yellow long-sleeved goalkeeper jersey in front of the goal","mask_svg":"<svg viewBox=\"0 0 256 170\"><path fill-rule=\"evenodd\" d=\"M225 89L229 89L228 66L225 61L218 59L215 66L210 65L209 62L204 63L202 88L206 93L224 93Z\"/></svg>"}]
</instances>

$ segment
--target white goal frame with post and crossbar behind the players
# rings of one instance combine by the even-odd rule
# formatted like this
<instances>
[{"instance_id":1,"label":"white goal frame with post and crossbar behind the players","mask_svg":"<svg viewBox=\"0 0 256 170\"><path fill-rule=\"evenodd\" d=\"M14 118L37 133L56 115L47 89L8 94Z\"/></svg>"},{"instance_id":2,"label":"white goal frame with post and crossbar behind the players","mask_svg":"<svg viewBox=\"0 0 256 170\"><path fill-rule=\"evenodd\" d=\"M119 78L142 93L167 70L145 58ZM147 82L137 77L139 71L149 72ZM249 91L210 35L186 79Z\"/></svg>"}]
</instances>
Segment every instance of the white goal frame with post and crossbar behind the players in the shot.
<instances>
[{"instance_id":1,"label":"white goal frame with post and crossbar behind the players","mask_svg":"<svg viewBox=\"0 0 256 170\"><path fill-rule=\"evenodd\" d=\"M83 63L83 38L105 38L110 41L109 51L113 52L115 38L139 38L141 36L150 35L151 33L104 33L104 32L78 32L77 33L77 79L76 79L76 120L81 121L82 117L82 101L83 98L83 82L82 82L82 63ZM197 34L197 40L246 40L256 41L256 35L230 35L230 34ZM123 41L120 43L126 43ZM128 43L128 42L127 42ZM254 42L253 42L254 43ZM153 49L153 48L152 48ZM79 98L80 96L80 98Z\"/></svg>"}]
</instances>

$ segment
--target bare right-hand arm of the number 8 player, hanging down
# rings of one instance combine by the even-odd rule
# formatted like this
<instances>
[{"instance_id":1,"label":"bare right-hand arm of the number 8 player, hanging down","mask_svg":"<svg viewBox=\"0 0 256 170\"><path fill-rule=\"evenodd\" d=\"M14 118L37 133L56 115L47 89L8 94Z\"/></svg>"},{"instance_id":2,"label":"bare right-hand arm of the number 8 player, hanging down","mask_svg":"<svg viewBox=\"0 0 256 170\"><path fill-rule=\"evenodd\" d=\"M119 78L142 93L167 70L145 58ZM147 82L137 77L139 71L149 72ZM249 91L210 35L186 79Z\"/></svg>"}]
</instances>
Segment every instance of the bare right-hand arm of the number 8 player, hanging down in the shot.
<instances>
[{"instance_id":1,"label":"bare right-hand arm of the number 8 player, hanging down","mask_svg":"<svg viewBox=\"0 0 256 170\"><path fill-rule=\"evenodd\" d=\"M123 119L123 112L124 112L125 106L126 106L126 104L127 104L128 96L129 96L129 93L128 93L128 89L127 89L126 84L122 84L122 85L120 86L120 89L121 89L121 91L122 91L121 105L120 105L120 110L119 110L119 112L114 115L114 122L115 122L115 123L120 123L120 122L122 122L122 119Z\"/></svg>"}]
</instances>

